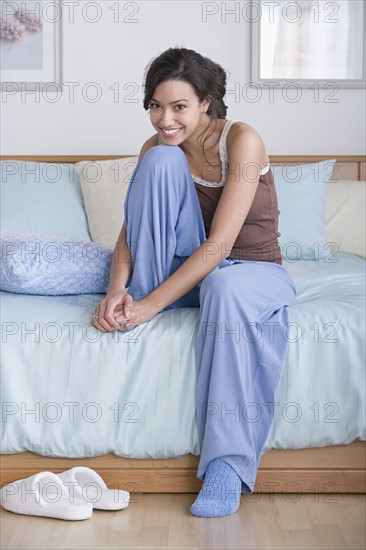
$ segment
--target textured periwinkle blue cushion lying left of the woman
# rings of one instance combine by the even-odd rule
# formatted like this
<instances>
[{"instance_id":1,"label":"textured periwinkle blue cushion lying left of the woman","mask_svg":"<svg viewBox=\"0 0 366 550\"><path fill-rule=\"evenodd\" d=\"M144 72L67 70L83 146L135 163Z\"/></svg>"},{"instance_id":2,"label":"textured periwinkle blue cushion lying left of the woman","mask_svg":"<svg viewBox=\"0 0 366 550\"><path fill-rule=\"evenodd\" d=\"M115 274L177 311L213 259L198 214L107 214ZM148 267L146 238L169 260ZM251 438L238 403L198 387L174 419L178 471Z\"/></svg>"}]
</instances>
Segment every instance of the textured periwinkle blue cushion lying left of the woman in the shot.
<instances>
[{"instance_id":1,"label":"textured periwinkle blue cushion lying left of the woman","mask_svg":"<svg viewBox=\"0 0 366 550\"><path fill-rule=\"evenodd\" d=\"M17 294L104 294L113 251L53 235L0 239L0 290Z\"/></svg>"}]
</instances>

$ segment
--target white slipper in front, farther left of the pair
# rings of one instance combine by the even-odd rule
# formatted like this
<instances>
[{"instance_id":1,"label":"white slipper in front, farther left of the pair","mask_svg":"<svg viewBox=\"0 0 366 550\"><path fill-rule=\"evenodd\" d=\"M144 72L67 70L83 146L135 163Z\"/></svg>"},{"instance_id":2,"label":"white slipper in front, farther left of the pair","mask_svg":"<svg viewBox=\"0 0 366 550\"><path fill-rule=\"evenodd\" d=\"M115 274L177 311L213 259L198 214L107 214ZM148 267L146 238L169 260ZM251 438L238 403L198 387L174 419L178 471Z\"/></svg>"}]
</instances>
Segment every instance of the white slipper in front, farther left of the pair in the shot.
<instances>
[{"instance_id":1,"label":"white slipper in front, farther left of the pair","mask_svg":"<svg viewBox=\"0 0 366 550\"><path fill-rule=\"evenodd\" d=\"M92 516L93 507L81 499L71 499L60 478L52 472L40 472L5 485L0 490L5 510L28 516L82 520Z\"/></svg>"}]
</instances>

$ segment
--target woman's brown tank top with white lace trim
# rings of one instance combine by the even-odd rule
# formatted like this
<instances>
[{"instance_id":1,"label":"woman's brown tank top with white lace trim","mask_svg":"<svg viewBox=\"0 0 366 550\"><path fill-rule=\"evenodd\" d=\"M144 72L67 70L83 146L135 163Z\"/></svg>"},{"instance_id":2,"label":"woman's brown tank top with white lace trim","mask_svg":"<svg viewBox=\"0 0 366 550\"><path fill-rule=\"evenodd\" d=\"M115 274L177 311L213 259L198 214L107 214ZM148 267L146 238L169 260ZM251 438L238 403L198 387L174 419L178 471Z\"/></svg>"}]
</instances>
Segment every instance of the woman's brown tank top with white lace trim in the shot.
<instances>
[{"instance_id":1,"label":"woman's brown tank top with white lace trim","mask_svg":"<svg viewBox=\"0 0 366 550\"><path fill-rule=\"evenodd\" d=\"M211 229L212 219L220 200L228 171L226 136L235 121L228 120L222 131L219 152L221 159L222 180L209 182L192 174L192 178L201 205L206 238ZM282 264L281 248L278 244L278 210L277 193L273 174L268 165L261 172L256 194L248 215L239 232L231 251L225 251L225 257L238 260L274 262Z\"/></svg>"}]
</instances>

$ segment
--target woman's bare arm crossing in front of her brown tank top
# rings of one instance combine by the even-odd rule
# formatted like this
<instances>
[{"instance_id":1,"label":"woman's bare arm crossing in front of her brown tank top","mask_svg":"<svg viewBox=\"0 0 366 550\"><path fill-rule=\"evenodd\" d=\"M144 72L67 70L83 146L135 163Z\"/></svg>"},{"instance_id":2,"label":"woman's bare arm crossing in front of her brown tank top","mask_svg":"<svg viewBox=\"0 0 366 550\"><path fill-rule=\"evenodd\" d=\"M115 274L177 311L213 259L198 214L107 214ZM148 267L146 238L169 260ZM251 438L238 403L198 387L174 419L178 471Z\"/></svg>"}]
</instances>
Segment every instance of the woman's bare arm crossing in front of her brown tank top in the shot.
<instances>
[{"instance_id":1,"label":"woman's bare arm crossing in front of her brown tank top","mask_svg":"<svg viewBox=\"0 0 366 550\"><path fill-rule=\"evenodd\" d=\"M230 255L258 187L260 171L268 164L259 134L246 124L233 126L227 137L229 171L208 239L151 292L145 300L153 311L172 304L201 282Z\"/></svg>"}]
</instances>

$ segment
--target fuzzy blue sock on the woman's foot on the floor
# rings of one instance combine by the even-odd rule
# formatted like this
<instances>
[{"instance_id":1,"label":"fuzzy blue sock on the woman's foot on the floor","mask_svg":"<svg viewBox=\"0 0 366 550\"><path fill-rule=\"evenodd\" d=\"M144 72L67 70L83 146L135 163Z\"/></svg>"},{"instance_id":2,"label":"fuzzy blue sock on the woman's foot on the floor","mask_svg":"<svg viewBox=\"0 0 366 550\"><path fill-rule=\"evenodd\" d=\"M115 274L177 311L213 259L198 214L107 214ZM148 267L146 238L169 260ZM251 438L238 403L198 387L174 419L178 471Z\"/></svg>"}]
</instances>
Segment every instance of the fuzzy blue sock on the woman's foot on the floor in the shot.
<instances>
[{"instance_id":1,"label":"fuzzy blue sock on the woman's foot on the floor","mask_svg":"<svg viewBox=\"0 0 366 550\"><path fill-rule=\"evenodd\" d=\"M239 508L240 497L241 478L225 460L215 458L207 466L203 485L190 511L204 518L229 516Z\"/></svg>"}]
</instances>

